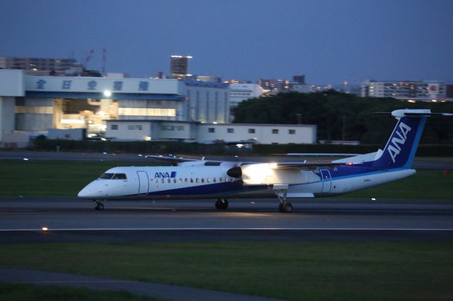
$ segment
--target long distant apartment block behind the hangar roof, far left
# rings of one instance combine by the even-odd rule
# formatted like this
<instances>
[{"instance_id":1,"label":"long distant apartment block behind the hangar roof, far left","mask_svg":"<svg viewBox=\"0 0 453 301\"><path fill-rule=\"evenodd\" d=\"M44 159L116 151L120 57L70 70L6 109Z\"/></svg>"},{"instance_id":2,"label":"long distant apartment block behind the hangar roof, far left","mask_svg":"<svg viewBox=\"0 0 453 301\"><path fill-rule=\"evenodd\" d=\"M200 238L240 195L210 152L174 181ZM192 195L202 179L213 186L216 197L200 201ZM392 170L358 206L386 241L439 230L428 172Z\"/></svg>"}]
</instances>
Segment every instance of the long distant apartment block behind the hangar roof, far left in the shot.
<instances>
[{"instance_id":1,"label":"long distant apartment block behind the hangar roof, far left","mask_svg":"<svg viewBox=\"0 0 453 301\"><path fill-rule=\"evenodd\" d=\"M64 75L83 70L75 59L46 59L37 57L0 57L0 69L25 70L30 75Z\"/></svg>"}]
</instances>

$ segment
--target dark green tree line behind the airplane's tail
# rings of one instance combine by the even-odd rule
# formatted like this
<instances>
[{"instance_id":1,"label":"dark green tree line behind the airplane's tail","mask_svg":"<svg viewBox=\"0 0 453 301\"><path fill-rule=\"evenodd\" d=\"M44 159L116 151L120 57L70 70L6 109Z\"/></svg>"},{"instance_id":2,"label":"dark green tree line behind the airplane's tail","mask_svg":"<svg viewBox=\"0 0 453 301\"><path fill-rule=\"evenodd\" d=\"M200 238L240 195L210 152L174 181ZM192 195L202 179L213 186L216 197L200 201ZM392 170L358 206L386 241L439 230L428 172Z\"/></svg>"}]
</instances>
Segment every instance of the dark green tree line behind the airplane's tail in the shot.
<instances>
[{"instance_id":1,"label":"dark green tree line behind the airplane's tail","mask_svg":"<svg viewBox=\"0 0 453 301\"><path fill-rule=\"evenodd\" d=\"M389 137L395 119L373 112L391 112L398 109L453 112L453 102L412 103L394 98L361 98L335 90L280 93L239 103L234 114L234 123L316 124L318 140L382 143ZM420 143L453 144L453 118L431 117L426 123Z\"/></svg>"}]
</instances>

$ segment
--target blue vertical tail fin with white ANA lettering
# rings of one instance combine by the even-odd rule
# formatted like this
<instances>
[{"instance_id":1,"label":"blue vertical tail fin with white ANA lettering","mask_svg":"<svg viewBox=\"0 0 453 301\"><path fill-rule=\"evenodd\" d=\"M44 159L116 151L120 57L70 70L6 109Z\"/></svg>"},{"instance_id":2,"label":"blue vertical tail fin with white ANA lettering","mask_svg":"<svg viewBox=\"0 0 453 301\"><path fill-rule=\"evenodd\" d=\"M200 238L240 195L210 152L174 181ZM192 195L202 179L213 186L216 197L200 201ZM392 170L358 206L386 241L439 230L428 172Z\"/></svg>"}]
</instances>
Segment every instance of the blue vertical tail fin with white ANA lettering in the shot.
<instances>
[{"instance_id":1,"label":"blue vertical tail fin with white ANA lettering","mask_svg":"<svg viewBox=\"0 0 453 301\"><path fill-rule=\"evenodd\" d=\"M412 167L427 115L430 114L423 115L422 112L405 114L405 112L414 111L426 112L427 110L397 110L392 112L392 115L397 117L398 123L391 133L381 157L373 162L373 167L379 169ZM398 113L394 114L395 112ZM428 110L428 112L430 111Z\"/></svg>"}]
</instances>

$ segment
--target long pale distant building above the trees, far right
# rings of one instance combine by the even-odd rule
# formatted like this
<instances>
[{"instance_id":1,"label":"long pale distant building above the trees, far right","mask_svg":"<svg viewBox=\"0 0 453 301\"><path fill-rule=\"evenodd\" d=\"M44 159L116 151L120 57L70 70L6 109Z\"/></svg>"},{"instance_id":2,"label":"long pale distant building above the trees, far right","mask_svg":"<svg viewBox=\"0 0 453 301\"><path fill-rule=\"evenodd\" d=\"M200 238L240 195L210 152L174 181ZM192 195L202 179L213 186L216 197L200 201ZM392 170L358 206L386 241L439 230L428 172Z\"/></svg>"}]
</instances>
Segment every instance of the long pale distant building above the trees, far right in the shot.
<instances>
[{"instance_id":1,"label":"long pale distant building above the trees, far right","mask_svg":"<svg viewBox=\"0 0 453 301\"><path fill-rule=\"evenodd\" d=\"M445 101L445 83L440 81L364 81L362 97L399 100Z\"/></svg>"}]
</instances>

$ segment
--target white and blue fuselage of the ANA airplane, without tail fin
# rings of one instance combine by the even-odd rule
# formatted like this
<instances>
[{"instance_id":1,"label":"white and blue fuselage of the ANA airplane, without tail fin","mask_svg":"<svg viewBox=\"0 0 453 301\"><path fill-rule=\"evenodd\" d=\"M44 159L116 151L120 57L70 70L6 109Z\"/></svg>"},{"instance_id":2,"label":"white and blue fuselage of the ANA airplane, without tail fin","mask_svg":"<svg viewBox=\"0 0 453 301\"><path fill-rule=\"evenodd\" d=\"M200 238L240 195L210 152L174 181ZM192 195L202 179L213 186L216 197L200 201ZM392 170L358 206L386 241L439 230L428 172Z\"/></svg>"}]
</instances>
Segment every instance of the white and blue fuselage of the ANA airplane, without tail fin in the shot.
<instances>
[{"instance_id":1,"label":"white and blue fuselage of the ANA airplane, without tail fin","mask_svg":"<svg viewBox=\"0 0 453 301\"><path fill-rule=\"evenodd\" d=\"M343 167L345 168L345 167ZM243 180L225 166L114 167L79 192L84 199L215 199L274 197L287 185L288 198L333 196L373 187L415 173L412 169L336 175L333 170L265 170ZM121 177L118 177L121 176Z\"/></svg>"}]
</instances>

